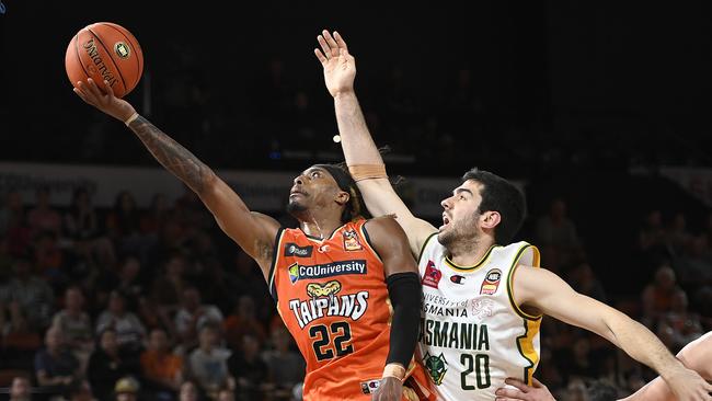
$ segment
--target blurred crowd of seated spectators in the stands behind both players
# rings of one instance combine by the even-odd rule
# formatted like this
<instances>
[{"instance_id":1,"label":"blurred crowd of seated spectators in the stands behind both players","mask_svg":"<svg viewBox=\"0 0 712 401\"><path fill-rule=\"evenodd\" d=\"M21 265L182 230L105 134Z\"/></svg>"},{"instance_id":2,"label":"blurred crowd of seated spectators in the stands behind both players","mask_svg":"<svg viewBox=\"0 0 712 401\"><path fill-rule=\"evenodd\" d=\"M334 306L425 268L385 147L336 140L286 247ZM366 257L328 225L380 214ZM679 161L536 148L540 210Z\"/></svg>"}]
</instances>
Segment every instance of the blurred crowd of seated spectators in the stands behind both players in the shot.
<instances>
[{"instance_id":1,"label":"blurred crowd of seated spectators in the stands behind both players","mask_svg":"<svg viewBox=\"0 0 712 401\"><path fill-rule=\"evenodd\" d=\"M690 232L686 218L707 218L705 230ZM712 330L712 214L651 211L630 244L640 263L621 275L647 284L625 297L607 293L564 199L530 219L525 234L547 267L671 352ZM541 348L536 376L560 400L587 400L604 383L627 394L655 376L553 319ZM299 400L303 368L260 268L191 191L146 207L122 192L110 208L83 188L68 207L45 188L2 194L0 387L11 399Z\"/></svg>"}]
</instances>

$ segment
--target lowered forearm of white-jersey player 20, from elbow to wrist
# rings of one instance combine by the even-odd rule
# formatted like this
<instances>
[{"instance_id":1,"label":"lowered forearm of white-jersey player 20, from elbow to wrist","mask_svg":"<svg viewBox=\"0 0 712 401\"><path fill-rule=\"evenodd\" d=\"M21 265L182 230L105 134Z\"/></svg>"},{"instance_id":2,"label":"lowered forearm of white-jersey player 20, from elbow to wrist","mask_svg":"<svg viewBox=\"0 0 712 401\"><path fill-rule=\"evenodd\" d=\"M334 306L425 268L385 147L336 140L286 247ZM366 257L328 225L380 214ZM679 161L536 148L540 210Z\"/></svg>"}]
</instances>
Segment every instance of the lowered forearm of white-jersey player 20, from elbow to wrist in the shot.
<instances>
[{"instance_id":1,"label":"lowered forearm of white-jersey player 20, from elbow to wrist","mask_svg":"<svg viewBox=\"0 0 712 401\"><path fill-rule=\"evenodd\" d=\"M635 360L653 368L663 378L684 367L655 334L625 314L611 317L606 324L612 334L610 340L616 345Z\"/></svg>"}]
</instances>

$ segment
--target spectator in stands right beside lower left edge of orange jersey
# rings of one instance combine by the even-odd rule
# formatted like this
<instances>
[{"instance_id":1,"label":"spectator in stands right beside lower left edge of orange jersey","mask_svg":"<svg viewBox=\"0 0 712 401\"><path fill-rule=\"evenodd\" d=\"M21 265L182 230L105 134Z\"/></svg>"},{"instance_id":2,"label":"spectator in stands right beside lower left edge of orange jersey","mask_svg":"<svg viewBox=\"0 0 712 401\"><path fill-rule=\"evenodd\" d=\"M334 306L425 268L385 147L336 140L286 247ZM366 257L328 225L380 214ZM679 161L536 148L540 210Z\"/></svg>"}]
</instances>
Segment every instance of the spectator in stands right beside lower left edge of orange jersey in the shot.
<instances>
[{"instance_id":1,"label":"spectator in stands right beside lower left edge of orange jersey","mask_svg":"<svg viewBox=\"0 0 712 401\"><path fill-rule=\"evenodd\" d=\"M305 378L305 359L292 350L294 339L285 326L273 329L271 339L274 348L265 351L263 359L269 371L269 381L275 387L276 398L288 400L291 389Z\"/></svg>"}]
</instances>

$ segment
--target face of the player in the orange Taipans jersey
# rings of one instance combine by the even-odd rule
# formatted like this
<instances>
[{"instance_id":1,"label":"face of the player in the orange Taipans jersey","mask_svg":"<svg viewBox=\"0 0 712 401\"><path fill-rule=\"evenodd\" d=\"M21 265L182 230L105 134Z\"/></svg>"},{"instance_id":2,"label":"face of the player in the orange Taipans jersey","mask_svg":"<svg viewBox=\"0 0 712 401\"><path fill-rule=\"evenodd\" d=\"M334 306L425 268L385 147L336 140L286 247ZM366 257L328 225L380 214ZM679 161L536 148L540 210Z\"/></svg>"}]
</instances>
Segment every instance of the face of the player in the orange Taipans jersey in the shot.
<instances>
[{"instance_id":1,"label":"face of the player in the orange Taipans jersey","mask_svg":"<svg viewBox=\"0 0 712 401\"><path fill-rule=\"evenodd\" d=\"M338 191L336 181L326 170L311 167L295 179L287 211L299 218L303 211L326 207Z\"/></svg>"}]
</instances>

